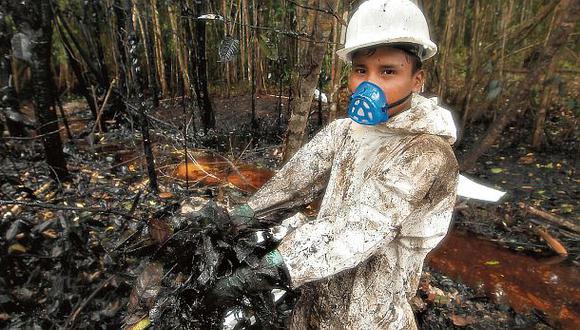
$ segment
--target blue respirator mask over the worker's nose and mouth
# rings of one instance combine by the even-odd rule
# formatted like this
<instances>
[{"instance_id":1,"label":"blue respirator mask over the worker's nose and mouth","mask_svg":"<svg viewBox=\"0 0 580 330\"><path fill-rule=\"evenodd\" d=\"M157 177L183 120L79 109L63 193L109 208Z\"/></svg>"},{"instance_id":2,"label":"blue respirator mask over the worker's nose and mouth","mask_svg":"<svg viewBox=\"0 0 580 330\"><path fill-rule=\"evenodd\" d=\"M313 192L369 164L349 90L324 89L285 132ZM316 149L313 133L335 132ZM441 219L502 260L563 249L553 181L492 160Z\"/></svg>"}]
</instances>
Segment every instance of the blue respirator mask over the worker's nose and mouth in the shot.
<instances>
[{"instance_id":1,"label":"blue respirator mask over the worker's nose and mouth","mask_svg":"<svg viewBox=\"0 0 580 330\"><path fill-rule=\"evenodd\" d=\"M389 109L402 104L411 93L399 101L389 104L383 90L370 81L363 81L351 96L348 104L350 119L362 125L378 125L389 119Z\"/></svg>"}]
</instances>

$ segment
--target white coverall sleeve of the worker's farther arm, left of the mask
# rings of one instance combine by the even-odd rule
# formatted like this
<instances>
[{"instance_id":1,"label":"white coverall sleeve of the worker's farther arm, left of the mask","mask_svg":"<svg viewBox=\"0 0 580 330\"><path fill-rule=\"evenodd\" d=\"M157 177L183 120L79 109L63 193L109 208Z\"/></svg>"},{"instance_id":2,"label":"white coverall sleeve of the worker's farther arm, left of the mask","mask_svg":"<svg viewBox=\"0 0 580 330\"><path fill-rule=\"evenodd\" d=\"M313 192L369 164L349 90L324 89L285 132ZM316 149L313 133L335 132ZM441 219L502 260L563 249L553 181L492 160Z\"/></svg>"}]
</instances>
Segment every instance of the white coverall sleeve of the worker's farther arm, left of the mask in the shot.
<instances>
[{"instance_id":1,"label":"white coverall sleeve of the worker's farther arm, left of the mask","mask_svg":"<svg viewBox=\"0 0 580 330\"><path fill-rule=\"evenodd\" d=\"M345 124L336 120L318 132L250 198L248 204L258 217L306 205L324 190Z\"/></svg>"}]
</instances>

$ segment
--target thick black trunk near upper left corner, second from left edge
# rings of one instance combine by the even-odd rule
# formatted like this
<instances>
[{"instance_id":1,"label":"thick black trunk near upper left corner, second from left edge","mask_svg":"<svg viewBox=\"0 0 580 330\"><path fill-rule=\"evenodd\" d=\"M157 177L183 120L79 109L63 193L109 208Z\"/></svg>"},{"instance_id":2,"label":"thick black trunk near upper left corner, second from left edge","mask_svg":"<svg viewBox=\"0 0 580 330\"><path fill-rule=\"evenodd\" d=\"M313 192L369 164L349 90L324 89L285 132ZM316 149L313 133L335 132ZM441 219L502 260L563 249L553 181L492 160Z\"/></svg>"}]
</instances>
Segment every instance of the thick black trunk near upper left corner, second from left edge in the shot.
<instances>
[{"instance_id":1,"label":"thick black trunk near upper left corner, second from left edge","mask_svg":"<svg viewBox=\"0 0 580 330\"><path fill-rule=\"evenodd\" d=\"M26 40L29 45L21 49L20 55L30 65L37 132L42 138L46 162L51 168L50 175L62 181L68 178L68 171L54 107L55 89L51 70L54 15L50 0L20 0L7 3L18 31L22 34L22 40ZM24 44L23 42L22 45Z\"/></svg>"}]
</instances>

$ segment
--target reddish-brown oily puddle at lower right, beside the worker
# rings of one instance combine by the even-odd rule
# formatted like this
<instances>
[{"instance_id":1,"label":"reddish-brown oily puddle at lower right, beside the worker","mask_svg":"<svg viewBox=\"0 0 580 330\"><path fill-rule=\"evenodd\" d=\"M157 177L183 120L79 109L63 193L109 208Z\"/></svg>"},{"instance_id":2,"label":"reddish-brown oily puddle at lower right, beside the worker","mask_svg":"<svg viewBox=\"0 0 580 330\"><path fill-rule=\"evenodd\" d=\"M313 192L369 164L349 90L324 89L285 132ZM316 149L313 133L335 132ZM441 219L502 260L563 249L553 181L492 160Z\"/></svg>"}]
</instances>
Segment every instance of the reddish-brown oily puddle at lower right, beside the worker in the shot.
<instances>
[{"instance_id":1,"label":"reddish-brown oily puddle at lower right, beside the worker","mask_svg":"<svg viewBox=\"0 0 580 330\"><path fill-rule=\"evenodd\" d=\"M580 329L580 271L573 266L518 254L492 242L452 231L427 257L438 271L487 294L517 312L536 308L558 326Z\"/></svg>"}]
</instances>

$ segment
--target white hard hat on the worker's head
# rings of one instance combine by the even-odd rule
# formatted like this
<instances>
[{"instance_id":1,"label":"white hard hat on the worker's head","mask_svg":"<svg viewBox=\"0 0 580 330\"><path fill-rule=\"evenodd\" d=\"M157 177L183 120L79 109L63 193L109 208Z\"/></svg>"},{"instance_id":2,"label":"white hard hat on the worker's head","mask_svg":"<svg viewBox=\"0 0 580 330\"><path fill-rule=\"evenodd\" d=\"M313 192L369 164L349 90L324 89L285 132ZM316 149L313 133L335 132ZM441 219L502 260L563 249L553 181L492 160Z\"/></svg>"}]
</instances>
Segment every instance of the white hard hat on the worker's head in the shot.
<instances>
[{"instance_id":1,"label":"white hard hat on the worker's head","mask_svg":"<svg viewBox=\"0 0 580 330\"><path fill-rule=\"evenodd\" d=\"M344 48L336 54L350 62L355 51L385 44L418 46L421 61L437 53L437 45L429 37L427 20L413 2L367 0L352 15Z\"/></svg>"}]
</instances>

